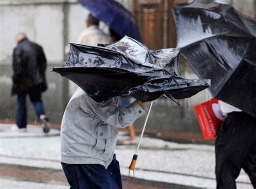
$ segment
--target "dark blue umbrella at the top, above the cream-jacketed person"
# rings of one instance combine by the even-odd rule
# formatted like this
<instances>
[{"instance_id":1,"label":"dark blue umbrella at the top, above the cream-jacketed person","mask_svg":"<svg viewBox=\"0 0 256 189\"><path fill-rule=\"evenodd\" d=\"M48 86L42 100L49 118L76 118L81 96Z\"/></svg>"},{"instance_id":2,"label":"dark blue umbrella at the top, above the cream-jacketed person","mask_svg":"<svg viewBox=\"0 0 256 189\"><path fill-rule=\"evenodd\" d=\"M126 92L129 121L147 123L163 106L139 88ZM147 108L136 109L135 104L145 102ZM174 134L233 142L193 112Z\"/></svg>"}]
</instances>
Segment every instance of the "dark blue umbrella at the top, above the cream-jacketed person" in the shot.
<instances>
[{"instance_id":1,"label":"dark blue umbrella at the top, above the cream-jacketed person","mask_svg":"<svg viewBox=\"0 0 256 189\"><path fill-rule=\"evenodd\" d=\"M121 37L129 36L142 41L140 29L131 13L124 6L113 0L78 0L92 16L103 21Z\"/></svg>"}]
</instances>

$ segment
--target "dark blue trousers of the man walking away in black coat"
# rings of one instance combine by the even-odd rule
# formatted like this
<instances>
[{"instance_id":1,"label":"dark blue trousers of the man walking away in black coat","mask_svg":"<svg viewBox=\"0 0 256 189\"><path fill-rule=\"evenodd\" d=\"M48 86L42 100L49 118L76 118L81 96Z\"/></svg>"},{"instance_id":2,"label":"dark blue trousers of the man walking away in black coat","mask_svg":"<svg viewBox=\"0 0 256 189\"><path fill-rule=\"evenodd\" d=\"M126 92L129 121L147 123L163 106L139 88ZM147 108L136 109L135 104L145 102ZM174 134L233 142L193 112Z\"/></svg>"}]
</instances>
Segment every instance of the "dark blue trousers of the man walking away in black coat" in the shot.
<instances>
[{"instance_id":1,"label":"dark blue trousers of the man walking away in black coat","mask_svg":"<svg viewBox=\"0 0 256 189\"><path fill-rule=\"evenodd\" d=\"M44 113L43 102L41 99L41 91L38 87L34 87L28 91L28 93L20 93L17 95L17 126L19 129L26 128L26 95L29 95L29 98L33 104L33 107L36 111L38 120L40 116Z\"/></svg>"}]
</instances>

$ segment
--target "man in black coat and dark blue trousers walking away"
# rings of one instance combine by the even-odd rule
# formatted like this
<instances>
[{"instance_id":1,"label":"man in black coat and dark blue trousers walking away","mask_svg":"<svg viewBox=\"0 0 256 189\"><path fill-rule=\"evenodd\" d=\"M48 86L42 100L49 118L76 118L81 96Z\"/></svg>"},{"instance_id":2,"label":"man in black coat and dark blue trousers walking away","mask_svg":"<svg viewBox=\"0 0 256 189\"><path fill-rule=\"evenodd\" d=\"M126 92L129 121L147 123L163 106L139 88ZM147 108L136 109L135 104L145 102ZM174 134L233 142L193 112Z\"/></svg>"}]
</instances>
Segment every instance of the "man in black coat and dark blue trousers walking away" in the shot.
<instances>
[{"instance_id":1,"label":"man in black coat and dark blue trousers walking away","mask_svg":"<svg viewBox=\"0 0 256 189\"><path fill-rule=\"evenodd\" d=\"M12 95L17 95L18 130L26 131L26 95L33 104L43 131L48 133L50 125L41 99L41 93L47 89L45 79L46 58L43 48L30 42L26 34L20 32L16 36L17 46L12 56Z\"/></svg>"}]
</instances>

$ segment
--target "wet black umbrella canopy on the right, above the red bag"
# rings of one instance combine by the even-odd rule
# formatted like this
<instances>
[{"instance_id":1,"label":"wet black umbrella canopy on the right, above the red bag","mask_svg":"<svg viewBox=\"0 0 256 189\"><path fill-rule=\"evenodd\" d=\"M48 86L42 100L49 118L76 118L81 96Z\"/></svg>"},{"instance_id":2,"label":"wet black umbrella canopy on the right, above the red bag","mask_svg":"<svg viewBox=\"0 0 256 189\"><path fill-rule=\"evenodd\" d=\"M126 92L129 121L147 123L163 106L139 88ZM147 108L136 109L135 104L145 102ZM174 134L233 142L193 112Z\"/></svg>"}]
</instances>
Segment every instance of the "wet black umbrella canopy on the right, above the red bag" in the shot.
<instances>
[{"instance_id":1,"label":"wet black umbrella canopy on the right, above the red bag","mask_svg":"<svg viewBox=\"0 0 256 189\"><path fill-rule=\"evenodd\" d=\"M212 96L256 117L256 20L228 4L194 1L172 8L177 47Z\"/></svg>"}]
</instances>

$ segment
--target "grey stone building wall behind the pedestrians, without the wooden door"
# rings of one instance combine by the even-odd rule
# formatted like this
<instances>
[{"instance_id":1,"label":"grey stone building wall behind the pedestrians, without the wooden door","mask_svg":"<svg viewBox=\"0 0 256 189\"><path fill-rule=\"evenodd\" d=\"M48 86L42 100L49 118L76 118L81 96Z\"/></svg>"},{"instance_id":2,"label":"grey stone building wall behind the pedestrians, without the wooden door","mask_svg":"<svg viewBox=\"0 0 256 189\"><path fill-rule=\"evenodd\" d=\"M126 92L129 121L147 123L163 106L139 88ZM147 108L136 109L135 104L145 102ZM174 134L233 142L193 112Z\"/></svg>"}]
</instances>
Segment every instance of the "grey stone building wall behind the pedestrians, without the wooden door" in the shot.
<instances>
[{"instance_id":1,"label":"grey stone building wall behind the pedestrians, without the wooden door","mask_svg":"<svg viewBox=\"0 0 256 189\"><path fill-rule=\"evenodd\" d=\"M230 0L231 1L231 0ZM246 0L254 6L253 0ZM120 0L126 8L132 8L132 1ZM238 7L239 0L233 0ZM243 3L246 4L246 3ZM250 5L242 10L249 11ZM85 28L85 18L89 12L75 0L2 0L0 1L0 119L16 119L16 98L10 96L11 90L11 56L15 47L15 35L24 31L28 38L43 46L48 68L46 77L48 91L43 93L46 112L52 123L60 123L66 104L74 89L67 79L51 72L53 66L61 66L65 62L64 46L75 43L78 34ZM107 31L101 23L100 27ZM186 78L197 76L188 66L181 68ZM76 87L76 86L75 86ZM165 131L200 132L193 105L204 102L206 90L186 100L180 100L181 107L171 100L158 99L154 102L147 129ZM28 99L29 121L36 122L36 115ZM141 128L145 116L136 122Z\"/></svg>"}]
</instances>

